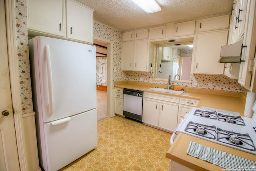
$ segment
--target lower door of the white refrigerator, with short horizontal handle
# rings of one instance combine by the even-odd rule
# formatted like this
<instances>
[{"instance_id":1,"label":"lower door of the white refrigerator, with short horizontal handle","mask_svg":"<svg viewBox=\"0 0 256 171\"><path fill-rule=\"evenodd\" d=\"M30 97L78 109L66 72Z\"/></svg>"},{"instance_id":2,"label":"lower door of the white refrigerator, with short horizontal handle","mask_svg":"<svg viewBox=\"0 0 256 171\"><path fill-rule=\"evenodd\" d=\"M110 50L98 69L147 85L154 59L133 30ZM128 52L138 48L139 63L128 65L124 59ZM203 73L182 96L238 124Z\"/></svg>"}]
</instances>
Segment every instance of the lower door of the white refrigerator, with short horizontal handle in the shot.
<instances>
[{"instance_id":1,"label":"lower door of the white refrigerator, with short horizontal handle","mask_svg":"<svg viewBox=\"0 0 256 171\"><path fill-rule=\"evenodd\" d=\"M44 170L56 171L96 147L96 109L72 116L64 122L62 119L59 123L54 121L44 124L44 129L46 151L40 157L47 161L43 165Z\"/></svg>"}]
</instances>

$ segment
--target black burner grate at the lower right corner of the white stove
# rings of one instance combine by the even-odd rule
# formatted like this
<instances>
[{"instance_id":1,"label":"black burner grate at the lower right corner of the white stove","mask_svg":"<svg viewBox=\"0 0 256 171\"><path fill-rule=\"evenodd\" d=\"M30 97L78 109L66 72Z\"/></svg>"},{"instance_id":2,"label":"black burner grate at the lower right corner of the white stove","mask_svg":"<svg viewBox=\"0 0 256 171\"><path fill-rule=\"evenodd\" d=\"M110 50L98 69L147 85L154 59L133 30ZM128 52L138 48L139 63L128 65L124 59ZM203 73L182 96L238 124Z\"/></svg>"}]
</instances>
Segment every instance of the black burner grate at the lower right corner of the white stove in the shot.
<instances>
[{"instance_id":1,"label":"black burner grate at the lower right corner of the white stove","mask_svg":"<svg viewBox=\"0 0 256 171\"><path fill-rule=\"evenodd\" d=\"M254 143L248 133L241 134L217 128L217 141L250 151L256 151Z\"/></svg>"}]
</instances>

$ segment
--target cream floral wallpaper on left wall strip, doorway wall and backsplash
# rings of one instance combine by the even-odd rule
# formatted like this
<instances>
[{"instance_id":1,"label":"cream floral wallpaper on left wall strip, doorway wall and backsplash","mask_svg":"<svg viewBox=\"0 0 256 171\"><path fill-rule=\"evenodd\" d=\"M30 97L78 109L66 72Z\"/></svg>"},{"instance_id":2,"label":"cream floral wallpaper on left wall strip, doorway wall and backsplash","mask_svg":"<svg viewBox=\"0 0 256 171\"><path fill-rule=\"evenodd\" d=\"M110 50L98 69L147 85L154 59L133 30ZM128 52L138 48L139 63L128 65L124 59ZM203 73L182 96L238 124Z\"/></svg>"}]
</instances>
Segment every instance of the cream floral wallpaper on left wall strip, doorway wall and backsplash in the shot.
<instances>
[{"instance_id":1,"label":"cream floral wallpaper on left wall strip, doorway wall and backsplash","mask_svg":"<svg viewBox=\"0 0 256 171\"><path fill-rule=\"evenodd\" d=\"M22 100L23 114L33 112L32 106L32 92L30 80L30 67L28 55L28 29L27 29L27 8L26 0L15 1L16 12L16 48L18 50L17 58L19 61L19 78L20 78L20 97ZM140 81L150 83L167 84L167 82L154 80L154 73L149 72L128 72L121 70L121 45L122 33L102 23L94 21L94 36L104 38L113 42L113 80L124 81ZM230 79L226 76L214 75L191 75L191 81L198 80L198 85L190 83L178 83L174 85L184 85L189 87L200 87L206 89L219 89L226 91L238 91L246 93L246 90L238 84L238 80ZM212 87L208 87L208 82L213 82Z\"/></svg>"}]
</instances>

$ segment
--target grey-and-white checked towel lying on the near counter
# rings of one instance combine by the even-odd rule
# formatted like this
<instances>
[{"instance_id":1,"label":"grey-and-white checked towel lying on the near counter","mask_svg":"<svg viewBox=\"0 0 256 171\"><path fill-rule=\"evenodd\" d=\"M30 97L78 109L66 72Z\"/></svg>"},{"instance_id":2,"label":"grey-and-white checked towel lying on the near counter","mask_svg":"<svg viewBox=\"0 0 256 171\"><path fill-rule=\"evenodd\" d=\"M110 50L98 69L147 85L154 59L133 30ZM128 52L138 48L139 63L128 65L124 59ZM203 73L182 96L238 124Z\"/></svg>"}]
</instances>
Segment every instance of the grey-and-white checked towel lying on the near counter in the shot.
<instances>
[{"instance_id":1,"label":"grey-and-white checked towel lying on the near counter","mask_svg":"<svg viewBox=\"0 0 256 171\"><path fill-rule=\"evenodd\" d=\"M256 171L256 162L190 141L186 154L226 170Z\"/></svg>"}]
</instances>

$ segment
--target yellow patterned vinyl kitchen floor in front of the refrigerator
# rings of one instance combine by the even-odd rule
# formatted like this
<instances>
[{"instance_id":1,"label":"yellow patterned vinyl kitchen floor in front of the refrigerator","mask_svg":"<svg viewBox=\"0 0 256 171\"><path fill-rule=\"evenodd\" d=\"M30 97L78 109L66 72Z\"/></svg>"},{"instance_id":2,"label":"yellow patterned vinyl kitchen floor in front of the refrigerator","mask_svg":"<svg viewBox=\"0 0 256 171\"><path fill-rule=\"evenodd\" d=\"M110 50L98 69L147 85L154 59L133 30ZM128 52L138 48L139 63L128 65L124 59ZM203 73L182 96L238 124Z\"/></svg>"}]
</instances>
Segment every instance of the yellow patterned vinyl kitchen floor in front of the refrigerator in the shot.
<instances>
[{"instance_id":1,"label":"yellow patterned vinyl kitchen floor in front of the refrigerator","mask_svg":"<svg viewBox=\"0 0 256 171\"><path fill-rule=\"evenodd\" d=\"M61 171L168 171L171 133L119 116L97 126L97 148Z\"/></svg>"}]
</instances>

